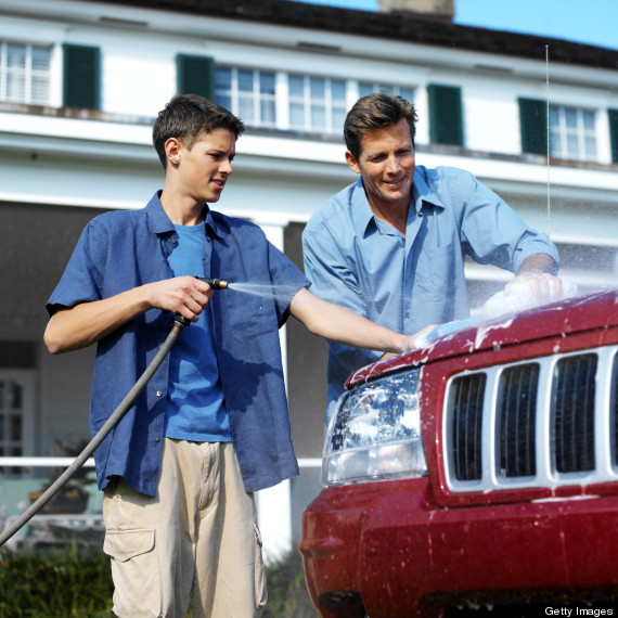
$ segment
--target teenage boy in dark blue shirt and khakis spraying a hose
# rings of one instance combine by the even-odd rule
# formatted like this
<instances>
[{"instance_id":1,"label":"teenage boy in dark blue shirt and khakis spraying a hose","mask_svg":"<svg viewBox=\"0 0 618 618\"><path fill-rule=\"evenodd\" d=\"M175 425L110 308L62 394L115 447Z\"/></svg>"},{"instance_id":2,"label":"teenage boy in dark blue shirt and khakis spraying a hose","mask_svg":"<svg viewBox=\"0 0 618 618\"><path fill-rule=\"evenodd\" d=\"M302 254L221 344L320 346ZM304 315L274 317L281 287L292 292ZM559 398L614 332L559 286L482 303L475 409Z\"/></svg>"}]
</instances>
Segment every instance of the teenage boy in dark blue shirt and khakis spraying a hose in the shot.
<instances>
[{"instance_id":1,"label":"teenage boy in dark blue shirt and khakis spraying a hose","mask_svg":"<svg viewBox=\"0 0 618 618\"><path fill-rule=\"evenodd\" d=\"M288 312L351 345L409 339L308 292L253 223L213 211L243 124L177 95L153 127L163 192L89 223L48 301L52 353L98 343L96 433L150 363L173 313L192 324L95 452L104 550L120 617L258 616L266 603L253 492L298 474L278 329ZM198 278L266 283L274 295L214 295ZM204 310L208 308L208 310Z\"/></svg>"}]
</instances>

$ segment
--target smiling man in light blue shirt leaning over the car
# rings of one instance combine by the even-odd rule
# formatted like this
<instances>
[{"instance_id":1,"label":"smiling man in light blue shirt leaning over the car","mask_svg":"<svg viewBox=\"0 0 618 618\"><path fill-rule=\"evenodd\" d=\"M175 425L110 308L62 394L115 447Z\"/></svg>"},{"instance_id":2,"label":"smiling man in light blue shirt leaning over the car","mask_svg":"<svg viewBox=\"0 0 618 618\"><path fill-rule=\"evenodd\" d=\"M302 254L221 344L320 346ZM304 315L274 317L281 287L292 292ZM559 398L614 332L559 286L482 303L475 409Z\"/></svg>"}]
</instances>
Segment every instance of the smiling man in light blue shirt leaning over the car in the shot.
<instances>
[{"instance_id":1,"label":"smiling man in light blue shirt leaning over the car","mask_svg":"<svg viewBox=\"0 0 618 618\"><path fill-rule=\"evenodd\" d=\"M558 255L493 192L463 170L415 165L416 114L385 92L347 115L346 160L360 178L334 195L302 234L314 293L415 333L468 316L464 258L528 280L540 299L559 294ZM330 342L329 409L349 374L379 355Z\"/></svg>"}]
</instances>

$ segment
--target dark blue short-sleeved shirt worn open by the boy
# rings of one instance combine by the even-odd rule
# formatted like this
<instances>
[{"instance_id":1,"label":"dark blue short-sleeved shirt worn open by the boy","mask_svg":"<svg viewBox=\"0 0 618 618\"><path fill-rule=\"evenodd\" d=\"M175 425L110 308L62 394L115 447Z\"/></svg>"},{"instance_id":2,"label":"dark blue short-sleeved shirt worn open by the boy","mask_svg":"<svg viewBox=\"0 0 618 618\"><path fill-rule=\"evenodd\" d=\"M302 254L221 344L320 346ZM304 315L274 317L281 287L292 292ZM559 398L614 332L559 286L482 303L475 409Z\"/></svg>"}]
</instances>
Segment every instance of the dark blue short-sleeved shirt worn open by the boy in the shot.
<instances>
[{"instance_id":1,"label":"dark blue short-sleeved shirt worn open by the boy","mask_svg":"<svg viewBox=\"0 0 618 618\"><path fill-rule=\"evenodd\" d=\"M222 289L209 302L232 438L247 491L298 474L292 446L279 329L292 298L309 281L262 230L242 219L207 211L204 272L232 282L272 285L271 297ZM168 257L173 224L155 194L140 210L106 213L83 230L47 308L108 298L172 276ZM151 309L98 344L90 430L94 435L138 381L169 334L173 316ZM189 326L189 330L191 326ZM169 357L168 357L169 358ZM168 359L94 453L99 487L123 476L154 495L163 447Z\"/></svg>"}]
</instances>

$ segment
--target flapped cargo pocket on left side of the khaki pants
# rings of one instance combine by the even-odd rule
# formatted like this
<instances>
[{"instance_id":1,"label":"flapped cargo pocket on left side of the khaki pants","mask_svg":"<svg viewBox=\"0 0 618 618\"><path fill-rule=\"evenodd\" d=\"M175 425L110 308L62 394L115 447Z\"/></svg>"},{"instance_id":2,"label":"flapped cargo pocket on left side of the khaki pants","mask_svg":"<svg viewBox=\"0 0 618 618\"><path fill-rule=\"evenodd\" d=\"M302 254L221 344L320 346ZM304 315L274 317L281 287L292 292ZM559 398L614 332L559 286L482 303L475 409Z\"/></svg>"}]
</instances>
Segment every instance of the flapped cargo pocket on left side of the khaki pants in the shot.
<instances>
[{"instance_id":1,"label":"flapped cargo pocket on left side of the khaki pants","mask_svg":"<svg viewBox=\"0 0 618 618\"><path fill-rule=\"evenodd\" d=\"M112 557L114 613L160 616L162 578L154 529L107 530L103 551Z\"/></svg>"}]
</instances>

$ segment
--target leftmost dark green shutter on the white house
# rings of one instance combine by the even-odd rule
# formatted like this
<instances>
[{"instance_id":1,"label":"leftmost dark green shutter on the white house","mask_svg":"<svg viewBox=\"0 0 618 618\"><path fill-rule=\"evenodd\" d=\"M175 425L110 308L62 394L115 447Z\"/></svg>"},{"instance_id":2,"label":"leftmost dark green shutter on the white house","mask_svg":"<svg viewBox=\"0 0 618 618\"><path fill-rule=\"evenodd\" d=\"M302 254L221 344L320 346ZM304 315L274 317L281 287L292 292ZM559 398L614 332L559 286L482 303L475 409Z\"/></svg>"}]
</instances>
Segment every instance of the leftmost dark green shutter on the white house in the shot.
<instances>
[{"instance_id":1,"label":"leftmost dark green shutter on the white house","mask_svg":"<svg viewBox=\"0 0 618 618\"><path fill-rule=\"evenodd\" d=\"M101 108L101 53L99 48L65 43L63 105Z\"/></svg>"}]
</instances>

